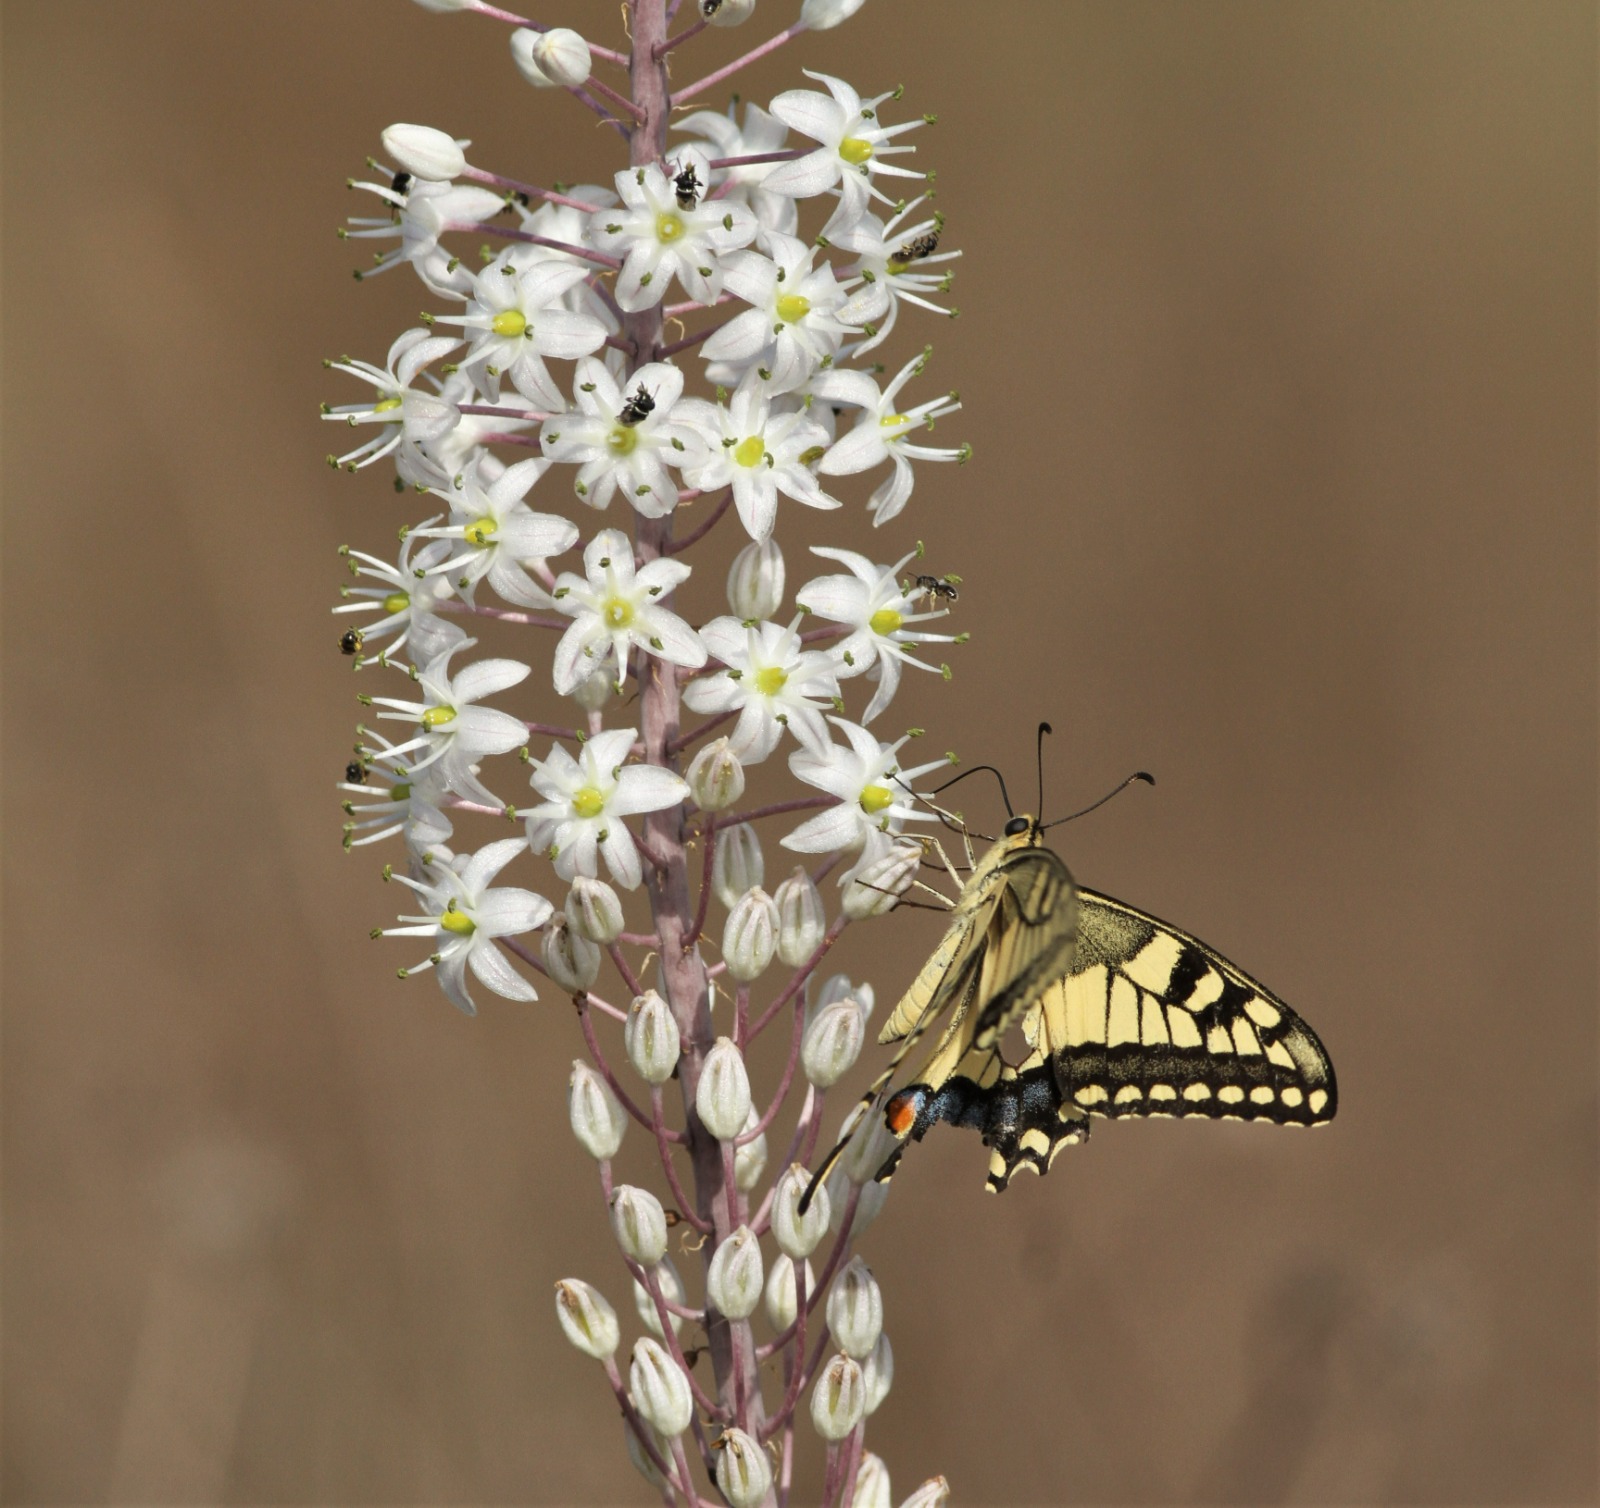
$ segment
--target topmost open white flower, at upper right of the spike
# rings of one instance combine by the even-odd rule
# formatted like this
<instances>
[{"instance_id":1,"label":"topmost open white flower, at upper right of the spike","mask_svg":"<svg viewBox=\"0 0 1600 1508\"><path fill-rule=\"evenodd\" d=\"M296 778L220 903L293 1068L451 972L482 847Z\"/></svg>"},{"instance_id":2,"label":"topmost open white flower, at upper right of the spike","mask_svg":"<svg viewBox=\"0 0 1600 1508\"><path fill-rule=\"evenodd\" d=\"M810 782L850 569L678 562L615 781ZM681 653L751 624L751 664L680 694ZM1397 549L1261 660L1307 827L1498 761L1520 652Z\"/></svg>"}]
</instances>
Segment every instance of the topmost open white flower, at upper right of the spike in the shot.
<instances>
[{"instance_id":1,"label":"topmost open white flower, at upper right of the spike","mask_svg":"<svg viewBox=\"0 0 1600 1508\"><path fill-rule=\"evenodd\" d=\"M907 120L896 126L878 123L878 106L885 99L894 99L898 90L862 101L842 78L813 74L810 69L805 75L826 83L827 94L818 94L814 90L789 90L773 101L773 114L819 146L794 162L781 162L766 176L763 187L770 194L790 194L795 199L811 199L837 187L838 208L822 227L824 235L834 235L861 218L869 195L891 203L888 194L872 182L874 174L922 178L920 173L898 168L883 158L898 152L915 152L915 147L896 147L890 142L923 122Z\"/></svg>"}]
</instances>

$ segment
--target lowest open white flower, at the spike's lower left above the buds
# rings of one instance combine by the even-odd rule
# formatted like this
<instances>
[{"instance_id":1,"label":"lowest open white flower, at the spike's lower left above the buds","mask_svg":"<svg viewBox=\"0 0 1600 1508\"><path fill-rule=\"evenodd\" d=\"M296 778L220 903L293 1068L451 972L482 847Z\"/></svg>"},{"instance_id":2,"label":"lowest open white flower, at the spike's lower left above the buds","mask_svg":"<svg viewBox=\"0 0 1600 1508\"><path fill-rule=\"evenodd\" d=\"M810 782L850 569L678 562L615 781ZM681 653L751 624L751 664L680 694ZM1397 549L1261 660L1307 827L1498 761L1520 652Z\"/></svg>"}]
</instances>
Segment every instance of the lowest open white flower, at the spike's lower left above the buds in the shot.
<instances>
[{"instance_id":1,"label":"lowest open white flower, at the spike's lower left above the buds","mask_svg":"<svg viewBox=\"0 0 1600 1508\"><path fill-rule=\"evenodd\" d=\"M467 994L467 970L477 980L504 996L507 1001L536 1001L534 988L520 975L494 946L494 938L518 936L541 927L550 914L550 903L531 890L512 885L490 888L490 880L501 872L526 845L520 837L506 837L488 844L466 860L458 860L459 869L445 868L435 884L426 885L394 876L402 885L410 885L422 898L426 916L403 916L403 927L384 928L384 936L432 936L434 953L406 973L438 969L438 988L458 1010L477 1015L477 1005Z\"/></svg>"}]
</instances>

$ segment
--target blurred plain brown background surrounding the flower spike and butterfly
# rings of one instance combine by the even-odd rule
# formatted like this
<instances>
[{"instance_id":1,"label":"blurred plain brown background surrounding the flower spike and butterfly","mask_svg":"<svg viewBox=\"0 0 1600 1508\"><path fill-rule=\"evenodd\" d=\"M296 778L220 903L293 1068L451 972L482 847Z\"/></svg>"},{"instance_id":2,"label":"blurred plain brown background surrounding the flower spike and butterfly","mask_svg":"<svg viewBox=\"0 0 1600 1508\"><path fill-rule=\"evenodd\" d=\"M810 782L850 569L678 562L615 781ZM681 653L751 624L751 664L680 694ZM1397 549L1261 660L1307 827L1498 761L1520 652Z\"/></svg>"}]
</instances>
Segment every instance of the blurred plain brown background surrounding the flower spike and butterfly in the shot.
<instances>
[{"instance_id":1,"label":"blurred plain brown background surrounding the flower spike and butterfly","mask_svg":"<svg viewBox=\"0 0 1600 1508\"><path fill-rule=\"evenodd\" d=\"M315 407L440 307L333 237L387 122L533 179L614 146L398 0L3 24L3 1497L648 1502L552 1316L624 1293L570 1009L467 1021L365 940L333 551L414 509ZM1101 1125L1002 1199L971 1137L907 1157L866 1242L896 1497L1594 1502L1594 6L870 0L738 86L803 66L941 117L962 319L886 359L936 341L976 459L877 538L786 525L790 581L923 538L974 640L885 728L1026 791L1050 717L1056 812L1155 770L1062 852L1342 1087L1314 1135ZM936 927L838 967L893 996Z\"/></svg>"}]
</instances>

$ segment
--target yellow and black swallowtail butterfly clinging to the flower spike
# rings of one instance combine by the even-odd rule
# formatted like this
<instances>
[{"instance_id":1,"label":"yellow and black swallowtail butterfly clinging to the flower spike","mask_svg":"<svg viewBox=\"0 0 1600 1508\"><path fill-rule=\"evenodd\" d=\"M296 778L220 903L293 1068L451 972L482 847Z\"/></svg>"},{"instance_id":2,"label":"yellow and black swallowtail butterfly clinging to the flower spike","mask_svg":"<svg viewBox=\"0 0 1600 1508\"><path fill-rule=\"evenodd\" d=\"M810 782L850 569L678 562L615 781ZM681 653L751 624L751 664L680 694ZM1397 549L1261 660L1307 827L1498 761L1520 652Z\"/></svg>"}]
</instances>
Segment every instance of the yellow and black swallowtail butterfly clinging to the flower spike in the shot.
<instances>
[{"instance_id":1,"label":"yellow and black swallowtail butterfly clinging to the flower spike","mask_svg":"<svg viewBox=\"0 0 1600 1508\"><path fill-rule=\"evenodd\" d=\"M834 1156L880 1100L896 1145L878 1180L894 1172L907 1141L947 1121L982 1133L997 1193L1019 1170L1046 1172L1064 1146L1088 1137L1091 1116L1331 1121L1333 1063L1310 1026L1214 948L1080 887L1045 845L1045 828L1011 816L971 866L944 938L878 1036L899 1050ZM1018 1023L1027 1052L1013 1065L1002 1044ZM934 1028L936 1045L914 1081L883 1098Z\"/></svg>"}]
</instances>

